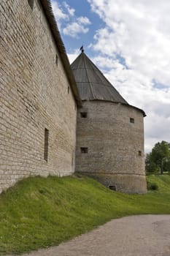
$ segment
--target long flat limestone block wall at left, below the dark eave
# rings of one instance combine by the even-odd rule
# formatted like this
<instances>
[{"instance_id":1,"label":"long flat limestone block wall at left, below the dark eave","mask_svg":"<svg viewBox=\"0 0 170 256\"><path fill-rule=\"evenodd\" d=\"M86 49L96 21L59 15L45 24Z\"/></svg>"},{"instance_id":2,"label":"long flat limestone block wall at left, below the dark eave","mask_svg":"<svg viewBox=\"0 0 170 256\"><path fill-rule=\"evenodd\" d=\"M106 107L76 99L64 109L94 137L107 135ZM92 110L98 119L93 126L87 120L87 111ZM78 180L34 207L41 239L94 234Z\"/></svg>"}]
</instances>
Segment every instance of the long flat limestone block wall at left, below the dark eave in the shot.
<instances>
[{"instance_id":1,"label":"long flat limestone block wall at left, below the dark eave","mask_svg":"<svg viewBox=\"0 0 170 256\"><path fill-rule=\"evenodd\" d=\"M0 17L1 191L26 176L74 171L77 108L40 1L31 10L27 0L1 0Z\"/></svg>"}]
</instances>

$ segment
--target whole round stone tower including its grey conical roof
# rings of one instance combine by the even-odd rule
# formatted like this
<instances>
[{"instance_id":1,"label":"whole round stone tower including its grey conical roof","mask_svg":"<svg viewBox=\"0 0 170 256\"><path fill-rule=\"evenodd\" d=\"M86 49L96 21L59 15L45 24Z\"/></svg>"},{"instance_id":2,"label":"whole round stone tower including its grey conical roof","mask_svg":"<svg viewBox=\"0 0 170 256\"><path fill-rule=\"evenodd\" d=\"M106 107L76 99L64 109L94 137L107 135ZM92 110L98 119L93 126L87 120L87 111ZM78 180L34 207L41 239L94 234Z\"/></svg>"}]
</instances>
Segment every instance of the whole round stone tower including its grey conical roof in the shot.
<instances>
[{"instance_id":1,"label":"whole round stone tower including its grey conical roof","mask_svg":"<svg viewBox=\"0 0 170 256\"><path fill-rule=\"evenodd\" d=\"M83 50L71 67L82 99L76 171L110 189L145 193L144 111L128 105Z\"/></svg>"}]
</instances>

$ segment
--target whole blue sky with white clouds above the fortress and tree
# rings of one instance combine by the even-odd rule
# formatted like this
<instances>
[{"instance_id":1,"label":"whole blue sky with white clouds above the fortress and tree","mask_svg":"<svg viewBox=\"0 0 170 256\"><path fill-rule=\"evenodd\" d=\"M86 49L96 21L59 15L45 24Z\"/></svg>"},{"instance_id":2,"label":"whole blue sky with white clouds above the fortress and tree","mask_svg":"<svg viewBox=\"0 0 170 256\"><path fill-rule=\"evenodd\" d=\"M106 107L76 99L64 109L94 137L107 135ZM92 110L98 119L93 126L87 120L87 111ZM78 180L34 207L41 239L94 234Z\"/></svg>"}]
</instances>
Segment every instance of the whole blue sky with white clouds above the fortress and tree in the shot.
<instances>
[{"instance_id":1,"label":"whole blue sky with white clouds above the fortress and tree","mask_svg":"<svg viewBox=\"0 0 170 256\"><path fill-rule=\"evenodd\" d=\"M52 0L72 63L85 54L125 100L147 114L144 148L170 142L170 1Z\"/></svg>"}]
</instances>

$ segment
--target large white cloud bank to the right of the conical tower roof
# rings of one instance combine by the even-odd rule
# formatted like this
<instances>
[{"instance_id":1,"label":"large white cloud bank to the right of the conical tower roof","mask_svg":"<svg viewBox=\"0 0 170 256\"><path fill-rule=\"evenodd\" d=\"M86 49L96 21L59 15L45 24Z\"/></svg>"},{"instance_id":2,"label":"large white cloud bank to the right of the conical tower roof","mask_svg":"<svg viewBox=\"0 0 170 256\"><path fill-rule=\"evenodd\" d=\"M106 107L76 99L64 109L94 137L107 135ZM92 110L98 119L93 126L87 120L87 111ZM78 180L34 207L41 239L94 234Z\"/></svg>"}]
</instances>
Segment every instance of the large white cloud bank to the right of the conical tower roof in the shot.
<instances>
[{"instance_id":1,"label":"large white cloud bank to the right of the conical tower roof","mask_svg":"<svg viewBox=\"0 0 170 256\"><path fill-rule=\"evenodd\" d=\"M105 23L90 45L99 51L94 61L129 104L147 113L146 151L170 141L170 1L88 2Z\"/></svg>"}]
</instances>

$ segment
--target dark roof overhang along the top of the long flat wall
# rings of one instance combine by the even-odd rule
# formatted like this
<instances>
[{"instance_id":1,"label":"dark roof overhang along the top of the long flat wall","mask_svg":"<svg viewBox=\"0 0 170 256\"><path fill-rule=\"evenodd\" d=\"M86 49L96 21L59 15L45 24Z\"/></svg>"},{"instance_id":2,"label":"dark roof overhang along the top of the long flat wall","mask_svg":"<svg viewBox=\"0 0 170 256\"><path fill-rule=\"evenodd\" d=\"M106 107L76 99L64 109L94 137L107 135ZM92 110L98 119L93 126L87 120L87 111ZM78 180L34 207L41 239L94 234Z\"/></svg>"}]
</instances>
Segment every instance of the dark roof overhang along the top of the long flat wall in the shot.
<instances>
[{"instance_id":1,"label":"dark roof overhang along the top of the long flat wall","mask_svg":"<svg viewBox=\"0 0 170 256\"><path fill-rule=\"evenodd\" d=\"M58 30L58 26L57 26L57 23L55 21L55 17L53 15L53 9L52 9L50 0L40 0L40 2L42 4L43 10L45 12L45 16L47 17L47 22L49 23L50 30L53 34L54 39L55 39L55 43L56 43L56 46L58 48L58 52L60 53L61 61L63 63L63 67L65 69L67 78L68 78L70 86L72 88L74 98L77 101L77 105L81 106L82 103L81 103L79 92L77 90L77 83L74 79L74 75L73 75L72 69L70 67L69 59L66 55L66 49L63 45L63 41L61 39L61 34Z\"/></svg>"}]
</instances>

